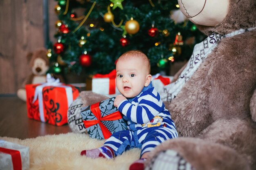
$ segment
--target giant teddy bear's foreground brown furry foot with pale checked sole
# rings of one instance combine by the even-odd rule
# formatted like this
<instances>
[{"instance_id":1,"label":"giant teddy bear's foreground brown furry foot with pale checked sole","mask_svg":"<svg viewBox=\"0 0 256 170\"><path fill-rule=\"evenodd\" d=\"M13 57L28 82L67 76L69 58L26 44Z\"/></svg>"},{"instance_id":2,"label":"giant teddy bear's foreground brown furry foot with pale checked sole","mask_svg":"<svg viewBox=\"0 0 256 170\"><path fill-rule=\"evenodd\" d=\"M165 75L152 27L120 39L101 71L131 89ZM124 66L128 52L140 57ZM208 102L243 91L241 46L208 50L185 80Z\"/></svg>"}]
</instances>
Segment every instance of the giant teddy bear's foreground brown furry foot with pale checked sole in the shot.
<instances>
[{"instance_id":1,"label":"giant teddy bear's foreground brown furry foot with pale checked sole","mask_svg":"<svg viewBox=\"0 0 256 170\"><path fill-rule=\"evenodd\" d=\"M146 170L181 165L193 167L186 168L191 170L250 170L245 158L234 149L190 137L170 139L157 146L148 156Z\"/></svg>"}]
</instances>

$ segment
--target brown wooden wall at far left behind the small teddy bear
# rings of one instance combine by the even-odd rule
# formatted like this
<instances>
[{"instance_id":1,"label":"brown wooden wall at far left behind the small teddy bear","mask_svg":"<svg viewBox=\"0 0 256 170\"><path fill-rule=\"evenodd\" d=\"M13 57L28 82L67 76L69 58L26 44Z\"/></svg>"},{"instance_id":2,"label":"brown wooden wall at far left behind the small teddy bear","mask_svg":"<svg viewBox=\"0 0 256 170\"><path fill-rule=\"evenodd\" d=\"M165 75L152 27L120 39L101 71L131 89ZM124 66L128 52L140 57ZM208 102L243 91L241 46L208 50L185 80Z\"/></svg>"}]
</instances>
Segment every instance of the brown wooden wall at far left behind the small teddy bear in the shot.
<instances>
[{"instance_id":1,"label":"brown wooden wall at far left behind the small teddy bear","mask_svg":"<svg viewBox=\"0 0 256 170\"><path fill-rule=\"evenodd\" d=\"M27 53L43 46L43 1L0 0L0 94L16 93L31 73Z\"/></svg>"}]
</instances>

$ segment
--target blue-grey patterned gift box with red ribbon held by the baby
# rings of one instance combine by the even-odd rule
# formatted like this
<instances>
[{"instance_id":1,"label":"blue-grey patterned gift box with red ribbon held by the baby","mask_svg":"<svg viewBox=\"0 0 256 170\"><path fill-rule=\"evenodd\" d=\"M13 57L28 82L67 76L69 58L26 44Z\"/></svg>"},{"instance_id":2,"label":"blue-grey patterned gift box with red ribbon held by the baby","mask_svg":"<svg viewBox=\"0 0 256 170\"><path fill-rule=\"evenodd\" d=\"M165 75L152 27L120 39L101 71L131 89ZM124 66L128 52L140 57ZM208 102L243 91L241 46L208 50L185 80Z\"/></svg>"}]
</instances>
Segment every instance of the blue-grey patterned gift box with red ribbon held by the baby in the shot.
<instances>
[{"instance_id":1,"label":"blue-grey patterned gift box with red ribbon held by the baby","mask_svg":"<svg viewBox=\"0 0 256 170\"><path fill-rule=\"evenodd\" d=\"M114 132L127 130L126 121L114 106L115 97L81 108L81 116L88 135L108 139Z\"/></svg>"}]
</instances>

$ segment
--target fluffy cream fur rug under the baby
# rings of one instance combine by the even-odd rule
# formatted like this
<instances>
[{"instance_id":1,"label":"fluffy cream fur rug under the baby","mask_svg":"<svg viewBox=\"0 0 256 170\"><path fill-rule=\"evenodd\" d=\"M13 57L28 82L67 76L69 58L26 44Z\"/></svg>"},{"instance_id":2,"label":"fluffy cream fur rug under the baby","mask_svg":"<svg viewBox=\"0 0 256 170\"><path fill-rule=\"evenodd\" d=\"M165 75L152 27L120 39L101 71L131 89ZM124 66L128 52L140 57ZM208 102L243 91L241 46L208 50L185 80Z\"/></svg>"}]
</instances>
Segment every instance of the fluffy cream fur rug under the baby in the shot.
<instances>
[{"instance_id":1,"label":"fluffy cream fur rug under the baby","mask_svg":"<svg viewBox=\"0 0 256 170\"><path fill-rule=\"evenodd\" d=\"M80 156L81 150L98 148L104 143L91 139L87 134L67 133L24 140L0 139L29 147L30 170L128 170L140 154L140 150L135 148L115 159Z\"/></svg>"}]
</instances>

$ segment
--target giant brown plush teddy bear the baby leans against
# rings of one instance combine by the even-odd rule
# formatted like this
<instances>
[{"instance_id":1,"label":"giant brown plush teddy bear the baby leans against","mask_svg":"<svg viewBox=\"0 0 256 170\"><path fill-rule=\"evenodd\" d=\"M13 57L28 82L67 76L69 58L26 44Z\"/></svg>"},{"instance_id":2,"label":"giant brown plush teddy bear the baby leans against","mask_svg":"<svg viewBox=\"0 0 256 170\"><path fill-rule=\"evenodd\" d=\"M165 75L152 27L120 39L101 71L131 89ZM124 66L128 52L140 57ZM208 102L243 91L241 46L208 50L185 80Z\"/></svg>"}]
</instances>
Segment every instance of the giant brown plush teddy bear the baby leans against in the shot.
<instances>
[{"instance_id":1,"label":"giant brown plush teddy bear the baby leans against","mask_svg":"<svg viewBox=\"0 0 256 170\"><path fill-rule=\"evenodd\" d=\"M179 0L179 5L218 42L209 41L214 48L203 53L207 57L177 95L168 98L171 84L162 91L180 137L157 146L146 169L256 170L256 0Z\"/></svg>"}]
</instances>

